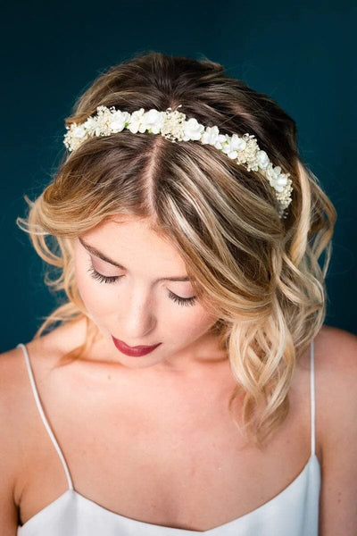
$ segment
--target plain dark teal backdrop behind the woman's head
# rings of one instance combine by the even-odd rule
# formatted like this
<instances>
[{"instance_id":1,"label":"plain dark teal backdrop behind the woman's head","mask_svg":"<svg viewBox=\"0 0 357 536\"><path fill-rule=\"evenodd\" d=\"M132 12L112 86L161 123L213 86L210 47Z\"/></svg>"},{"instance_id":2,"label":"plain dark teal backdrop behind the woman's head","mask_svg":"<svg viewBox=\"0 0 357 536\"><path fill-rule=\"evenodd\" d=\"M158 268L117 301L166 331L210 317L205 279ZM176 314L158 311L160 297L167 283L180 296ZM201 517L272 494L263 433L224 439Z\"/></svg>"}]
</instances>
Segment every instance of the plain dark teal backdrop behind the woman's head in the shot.
<instances>
[{"instance_id":1,"label":"plain dark teal backdrop behind the woman's head","mask_svg":"<svg viewBox=\"0 0 357 536\"><path fill-rule=\"evenodd\" d=\"M355 34L352 2L8 2L2 6L0 351L32 339L56 305L15 219L39 195L79 94L138 52L220 62L296 121L304 161L337 210L327 324L357 334Z\"/></svg>"}]
</instances>

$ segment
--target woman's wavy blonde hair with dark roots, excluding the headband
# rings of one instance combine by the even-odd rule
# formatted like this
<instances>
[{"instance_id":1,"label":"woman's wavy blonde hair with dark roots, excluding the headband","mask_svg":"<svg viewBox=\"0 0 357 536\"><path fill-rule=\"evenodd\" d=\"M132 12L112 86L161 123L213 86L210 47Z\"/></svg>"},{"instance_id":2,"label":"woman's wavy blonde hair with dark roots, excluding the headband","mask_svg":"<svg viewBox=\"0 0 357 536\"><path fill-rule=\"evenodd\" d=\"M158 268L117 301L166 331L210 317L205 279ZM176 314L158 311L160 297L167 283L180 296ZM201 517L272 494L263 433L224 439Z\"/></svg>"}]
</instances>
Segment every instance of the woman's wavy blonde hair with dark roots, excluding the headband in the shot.
<instances>
[{"instance_id":1,"label":"woman's wavy blonde hair with dark roots, excluding the headband","mask_svg":"<svg viewBox=\"0 0 357 536\"><path fill-rule=\"evenodd\" d=\"M295 121L270 96L228 77L206 57L137 54L100 73L65 124L86 121L98 105L132 113L179 104L188 117L217 125L222 133L255 135L271 162L291 174L286 219L278 217L268 181L215 147L172 144L129 130L89 138L63 154L53 181L35 201L25 196L27 217L16 220L37 254L60 271L54 279L46 273L46 284L66 296L35 339L55 322L85 317L84 344L63 360L86 354L98 330L79 296L72 239L118 214L150 218L153 229L177 247L194 286L197 281L196 292L217 317L212 332L227 350L237 381L229 411L238 429L262 448L288 414L296 361L324 322L336 210L298 154ZM238 419L239 393L244 398Z\"/></svg>"}]
</instances>

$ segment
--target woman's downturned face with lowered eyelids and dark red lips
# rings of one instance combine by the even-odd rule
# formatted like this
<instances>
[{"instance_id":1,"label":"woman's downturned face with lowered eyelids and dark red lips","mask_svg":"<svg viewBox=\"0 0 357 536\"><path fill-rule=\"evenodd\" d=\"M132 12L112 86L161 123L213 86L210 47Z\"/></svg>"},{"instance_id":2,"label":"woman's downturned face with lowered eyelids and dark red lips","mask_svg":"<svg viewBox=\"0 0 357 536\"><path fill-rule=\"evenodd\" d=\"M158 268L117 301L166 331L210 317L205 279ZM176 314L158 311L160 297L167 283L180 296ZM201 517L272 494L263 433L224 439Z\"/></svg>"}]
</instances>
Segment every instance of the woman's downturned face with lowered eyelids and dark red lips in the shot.
<instances>
[{"instance_id":1,"label":"woman's downturned face with lowered eyelids and dark red lips","mask_svg":"<svg viewBox=\"0 0 357 536\"><path fill-rule=\"evenodd\" d=\"M110 356L133 368L204 359L212 348L212 336L204 336L217 318L195 299L190 281L174 281L187 279L186 266L147 220L101 223L74 241L74 252L80 297ZM112 337L129 347L161 344L127 356Z\"/></svg>"}]
</instances>

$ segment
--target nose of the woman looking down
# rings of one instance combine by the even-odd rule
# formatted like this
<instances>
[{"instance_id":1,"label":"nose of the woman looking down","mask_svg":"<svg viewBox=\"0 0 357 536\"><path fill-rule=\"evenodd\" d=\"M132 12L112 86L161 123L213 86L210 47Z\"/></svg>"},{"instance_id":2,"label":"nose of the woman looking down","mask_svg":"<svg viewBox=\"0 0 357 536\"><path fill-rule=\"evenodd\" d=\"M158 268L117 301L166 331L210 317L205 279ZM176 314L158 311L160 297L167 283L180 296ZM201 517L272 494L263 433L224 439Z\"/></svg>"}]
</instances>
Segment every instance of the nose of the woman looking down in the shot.
<instances>
[{"instance_id":1,"label":"nose of the woman looking down","mask_svg":"<svg viewBox=\"0 0 357 536\"><path fill-rule=\"evenodd\" d=\"M154 298L150 291L138 287L129 289L120 304L120 325L124 342L130 346L145 344L145 338L154 330Z\"/></svg>"}]
</instances>

